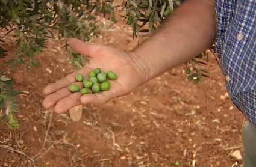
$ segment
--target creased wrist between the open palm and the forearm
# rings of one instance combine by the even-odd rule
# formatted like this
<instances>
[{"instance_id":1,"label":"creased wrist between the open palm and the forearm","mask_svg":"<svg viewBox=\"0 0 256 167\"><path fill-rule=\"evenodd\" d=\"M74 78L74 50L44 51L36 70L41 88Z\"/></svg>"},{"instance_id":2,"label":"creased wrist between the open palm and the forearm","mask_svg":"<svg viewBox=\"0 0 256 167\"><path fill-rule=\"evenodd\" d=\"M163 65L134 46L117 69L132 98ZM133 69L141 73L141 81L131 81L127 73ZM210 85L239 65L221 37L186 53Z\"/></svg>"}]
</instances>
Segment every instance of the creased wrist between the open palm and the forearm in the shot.
<instances>
[{"instance_id":1,"label":"creased wrist between the open palm and the forearm","mask_svg":"<svg viewBox=\"0 0 256 167\"><path fill-rule=\"evenodd\" d=\"M152 79L152 70L148 62L143 58L143 56L140 56L140 53L138 52L128 52L128 55L131 57L131 63L134 65L134 68L136 69L137 73L139 74L140 80L142 83L148 82L148 80Z\"/></svg>"}]
</instances>

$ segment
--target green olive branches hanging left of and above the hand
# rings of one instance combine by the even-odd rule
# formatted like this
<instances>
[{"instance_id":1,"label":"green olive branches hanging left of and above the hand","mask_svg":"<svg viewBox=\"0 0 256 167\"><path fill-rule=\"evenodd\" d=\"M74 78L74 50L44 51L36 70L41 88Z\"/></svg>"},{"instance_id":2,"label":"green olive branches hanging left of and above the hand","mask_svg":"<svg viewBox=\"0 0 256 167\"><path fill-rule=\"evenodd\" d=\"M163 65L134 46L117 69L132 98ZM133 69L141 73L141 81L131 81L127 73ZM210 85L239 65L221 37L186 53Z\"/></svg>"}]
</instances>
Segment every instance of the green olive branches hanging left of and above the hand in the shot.
<instances>
[{"instance_id":1,"label":"green olive branches hanging left of and above the hand","mask_svg":"<svg viewBox=\"0 0 256 167\"><path fill-rule=\"evenodd\" d=\"M6 62L10 65L9 70L14 70L16 65L25 65L27 69L37 66L35 56L43 52L48 39L74 37L89 41L99 33L96 15L114 17L113 12L111 1L1 0L0 28L5 29L7 34L12 32L16 40L14 53L9 54L12 57L8 57ZM7 56L2 43L4 37L0 37L0 58ZM67 45L66 41L66 49ZM71 55L70 61L76 67L86 63L83 56L72 50L68 52ZM10 129L16 127L12 113L17 111L17 103L14 101L17 94L19 92L13 90L13 80L0 74L0 109L4 111L2 118L7 120Z\"/></svg>"}]
</instances>

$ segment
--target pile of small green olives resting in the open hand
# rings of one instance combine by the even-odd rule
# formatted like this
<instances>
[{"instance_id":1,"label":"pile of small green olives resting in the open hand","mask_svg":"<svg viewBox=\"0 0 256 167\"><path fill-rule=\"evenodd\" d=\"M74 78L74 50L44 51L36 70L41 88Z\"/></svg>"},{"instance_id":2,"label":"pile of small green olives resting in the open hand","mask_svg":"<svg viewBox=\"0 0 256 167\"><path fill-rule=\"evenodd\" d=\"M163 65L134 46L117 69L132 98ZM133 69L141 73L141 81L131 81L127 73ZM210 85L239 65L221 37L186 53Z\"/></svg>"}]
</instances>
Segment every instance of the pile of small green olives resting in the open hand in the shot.
<instances>
[{"instance_id":1,"label":"pile of small green olives resting in the open hand","mask_svg":"<svg viewBox=\"0 0 256 167\"><path fill-rule=\"evenodd\" d=\"M75 83L69 85L69 91L76 93L80 91L82 94L99 93L100 91L107 91L110 89L110 82L108 80L116 80L116 74L113 71L107 71L104 73L101 68L96 68L88 73L88 78L85 79L83 74L78 73L75 76L77 82L83 82L83 88Z\"/></svg>"}]
</instances>

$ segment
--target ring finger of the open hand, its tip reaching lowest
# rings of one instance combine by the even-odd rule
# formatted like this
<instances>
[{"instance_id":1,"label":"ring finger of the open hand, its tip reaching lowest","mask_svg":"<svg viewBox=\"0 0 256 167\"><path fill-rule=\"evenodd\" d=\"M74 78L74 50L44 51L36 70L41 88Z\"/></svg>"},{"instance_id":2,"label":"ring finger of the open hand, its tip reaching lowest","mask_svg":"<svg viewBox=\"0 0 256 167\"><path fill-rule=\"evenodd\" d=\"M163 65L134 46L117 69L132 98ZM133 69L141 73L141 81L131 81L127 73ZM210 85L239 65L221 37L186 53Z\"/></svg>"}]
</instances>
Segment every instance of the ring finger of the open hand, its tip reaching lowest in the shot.
<instances>
[{"instance_id":1,"label":"ring finger of the open hand, its tip reaching lowest","mask_svg":"<svg viewBox=\"0 0 256 167\"><path fill-rule=\"evenodd\" d=\"M54 107L54 111L57 113L63 113L68 111L70 108L73 108L77 105L81 105L80 97L82 96L81 92L72 93L67 97L64 97Z\"/></svg>"}]
</instances>

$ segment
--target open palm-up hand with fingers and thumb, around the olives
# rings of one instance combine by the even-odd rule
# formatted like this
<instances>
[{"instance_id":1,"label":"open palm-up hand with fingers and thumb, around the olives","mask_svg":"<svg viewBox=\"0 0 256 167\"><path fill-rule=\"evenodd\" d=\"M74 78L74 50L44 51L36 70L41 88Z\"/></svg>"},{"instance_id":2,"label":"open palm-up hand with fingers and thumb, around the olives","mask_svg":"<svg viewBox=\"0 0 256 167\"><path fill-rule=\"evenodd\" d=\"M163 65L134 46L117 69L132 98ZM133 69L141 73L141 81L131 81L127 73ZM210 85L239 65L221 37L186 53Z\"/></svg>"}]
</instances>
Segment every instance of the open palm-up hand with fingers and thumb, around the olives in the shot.
<instances>
[{"instance_id":1,"label":"open palm-up hand with fingers and thumb, around the olives","mask_svg":"<svg viewBox=\"0 0 256 167\"><path fill-rule=\"evenodd\" d=\"M133 56L120 50L98 44L86 44L81 40L71 39L69 44L73 50L83 56L89 57L89 63L81 68L45 87L43 93L46 94L43 100L45 108L54 106L55 112L61 113L81 104L99 104L107 102L114 97L123 96L130 93L134 88L143 82L143 73L140 70ZM101 68L102 71L114 71L116 80L111 80L111 87L108 91L95 94L82 94L80 92L71 93L67 88L70 84L76 83L83 87L83 83L76 82L77 73L88 78L88 72Z\"/></svg>"}]
</instances>

